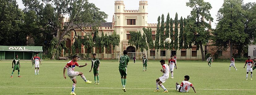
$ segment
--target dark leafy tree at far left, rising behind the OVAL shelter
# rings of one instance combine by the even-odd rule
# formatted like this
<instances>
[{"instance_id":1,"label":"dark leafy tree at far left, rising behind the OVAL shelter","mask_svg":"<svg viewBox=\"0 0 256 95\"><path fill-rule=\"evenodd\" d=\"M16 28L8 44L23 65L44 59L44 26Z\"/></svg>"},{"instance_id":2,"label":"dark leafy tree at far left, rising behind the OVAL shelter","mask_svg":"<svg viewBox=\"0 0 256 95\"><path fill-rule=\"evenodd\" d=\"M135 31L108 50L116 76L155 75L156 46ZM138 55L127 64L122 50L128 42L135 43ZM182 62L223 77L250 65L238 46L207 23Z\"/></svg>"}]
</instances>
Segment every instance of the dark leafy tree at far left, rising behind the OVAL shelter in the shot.
<instances>
[{"instance_id":1,"label":"dark leafy tree at far left, rising behind the OVAL shelter","mask_svg":"<svg viewBox=\"0 0 256 95\"><path fill-rule=\"evenodd\" d=\"M24 13L16 0L0 1L0 45L26 45L27 31L24 30Z\"/></svg>"}]
</instances>

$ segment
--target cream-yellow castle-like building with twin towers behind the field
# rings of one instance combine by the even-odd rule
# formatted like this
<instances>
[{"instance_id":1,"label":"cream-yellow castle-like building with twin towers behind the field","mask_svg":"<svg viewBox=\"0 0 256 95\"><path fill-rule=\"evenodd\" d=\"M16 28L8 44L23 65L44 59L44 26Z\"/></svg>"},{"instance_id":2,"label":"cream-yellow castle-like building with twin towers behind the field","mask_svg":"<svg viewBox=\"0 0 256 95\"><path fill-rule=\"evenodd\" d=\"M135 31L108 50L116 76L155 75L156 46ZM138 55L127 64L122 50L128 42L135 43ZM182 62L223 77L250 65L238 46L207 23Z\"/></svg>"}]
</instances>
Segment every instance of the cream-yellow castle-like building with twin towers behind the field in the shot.
<instances>
[{"instance_id":1,"label":"cream-yellow castle-like building with twin towers behind the field","mask_svg":"<svg viewBox=\"0 0 256 95\"><path fill-rule=\"evenodd\" d=\"M157 19L157 18L156 18ZM150 24L147 23L148 21L148 1L139 1L139 9L138 10L126 10L124 1L115 1L115 12L112 18L112 22L104 22L101 23L101 26L98 27L99 35L101 36L102 32L107 35L111 35L114 30L117 32L118 35L120 35L120 44L119 46L116 46L115 50L106 50L103 54L100 49L100 54L97 55L99 58L102 58L104 55L104 59L116 59L118 58L119 52L123 52L124 50L127 50L128 52L141 52L140 50L136 50L134 46L131 46L128 44L128 40L131 39L130 33L131 31L141 31L143 33L143 28L151 28L152 29L152 38L155 41L155 34L156 34L156 28L157 24ZM63 22L64 23L64 22ZM172 25L172 28L174 30L175 25ZM178 30L180 31L180 26L178 26ZM80 29L76 29L78 34L80 36L86 35L84 32L82 32ZM87 27L86 32L90 33L92 31L92 27ZM174 32L174 31L173 31ZM174 34L174 33L173 33ZM67 47L71 50L71 45L75 40L72 40L74 36L74 32L72 31L70 36L65 36L68 38L68 41L66 43ZM173 39L174 40L174 39ZM81 47L81 53L86 54L88 51L84 46ZM112 47L110 47L112 48ZM94 48L93 51L95 52L98 48ZM68 53L68 51L64 51ZM155 56L155 59L168 59L170 58L170 55L176 54L177 59L201 59L201 51L196 50L196 46L193 46L192 49L182 49L182 50L158 50L157 51L153 49L152 51L149 49L147 52L148 59L153 58L152 56ZM152 52L152 55L151 53ZM79 53L79 52L76 52ZM162 54L162 56L161 56ZM63 56L63 53L62 53ZM130 55L132 56L132 55ZM141 54L136 54L137 58L141 58Z\"/></svg>"}]
</instances>

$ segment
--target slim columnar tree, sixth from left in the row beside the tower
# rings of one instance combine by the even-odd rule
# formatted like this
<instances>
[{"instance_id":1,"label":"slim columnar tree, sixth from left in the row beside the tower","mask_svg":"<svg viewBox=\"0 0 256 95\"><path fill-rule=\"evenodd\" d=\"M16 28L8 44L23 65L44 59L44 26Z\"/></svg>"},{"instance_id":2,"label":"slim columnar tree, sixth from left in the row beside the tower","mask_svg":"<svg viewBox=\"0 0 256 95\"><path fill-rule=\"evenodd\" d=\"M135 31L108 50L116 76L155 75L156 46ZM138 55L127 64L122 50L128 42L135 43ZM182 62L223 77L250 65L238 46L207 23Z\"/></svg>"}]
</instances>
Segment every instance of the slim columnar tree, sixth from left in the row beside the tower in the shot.
<instances>
[{"instance_id":1,"label":"slim columnar tree, sixth from left in the row beside the tower","mask_svg":"<svg viewBox=\"0 0 256 95\"><path fill-rule=\"evenodd\" d=\"M179 50L183 48L183 41L184 41L184 35L183 35L183 18L180 17L180 35L179 35Z\"/></svg>"}]
</instances>

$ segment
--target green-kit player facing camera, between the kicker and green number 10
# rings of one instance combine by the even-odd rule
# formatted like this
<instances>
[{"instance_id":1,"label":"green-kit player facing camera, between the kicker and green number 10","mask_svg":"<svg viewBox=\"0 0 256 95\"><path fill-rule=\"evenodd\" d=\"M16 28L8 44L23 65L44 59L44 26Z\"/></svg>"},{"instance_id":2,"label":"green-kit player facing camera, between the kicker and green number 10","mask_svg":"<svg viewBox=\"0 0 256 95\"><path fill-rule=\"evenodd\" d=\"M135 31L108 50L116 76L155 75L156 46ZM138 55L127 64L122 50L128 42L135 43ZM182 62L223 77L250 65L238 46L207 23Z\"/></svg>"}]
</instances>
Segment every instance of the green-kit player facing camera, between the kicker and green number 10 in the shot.
<instances>
[{"instance_id":1,"label":"green-kit player facing camera, between the kicker and green number 10","mask_svg":"<svg viewBox=\"0 0 256 95\"><path fill-rule=\"evenodd\" d=\"M95 85L99 85L99 68L100 68L100 60L96 58L96 53L93 53L93 59L92 59L92 66L91 66L91 70L89 72L92 71L93 68L93 74L94 74L94 81L95 81ZM98 83L96 82L96 76L97 76L97 80Z\"/></svg>"}]
</instances>

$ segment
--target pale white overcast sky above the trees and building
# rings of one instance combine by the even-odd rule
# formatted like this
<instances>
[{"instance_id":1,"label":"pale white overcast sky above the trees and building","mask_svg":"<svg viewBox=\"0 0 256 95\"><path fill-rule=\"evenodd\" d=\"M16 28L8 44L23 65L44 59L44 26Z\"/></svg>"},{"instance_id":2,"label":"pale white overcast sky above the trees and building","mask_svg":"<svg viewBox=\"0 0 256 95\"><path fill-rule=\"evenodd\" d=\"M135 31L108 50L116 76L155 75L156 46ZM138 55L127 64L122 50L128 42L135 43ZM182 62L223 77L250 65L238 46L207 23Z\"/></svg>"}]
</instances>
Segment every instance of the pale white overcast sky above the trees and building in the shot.
<instances>
[{"instance_id":1,"label":"pale white overcast sky above the trees and building","mask_svg":"<svg viewBox=\"0 0 256 95\"><path fill-rule=\"evenodd\" d=\"M115 12L115 1L116 0L89 0L89 2L94 3L101 11L108 14L107 22L112 22L112 16ZM123 0L126 10L138 10L139 1L141 0ZM165 21L167 13L170 13L172 19L175 18L175 13L178 13L178 19L182 16L187 17L192 10L190 7L186 6L186 2L189 0L147 0L148 1L148 23L157 23L158 16L164 14ZM212 23L212 28L216 27L216 15L219 8L223 4L223 0L204 0L205 2L210 2L212 9L210 9L210 14L214 21ZM22 4L22 0L17 0L19 8L23 9L25 6ZM255 0L244 0L244 3L255 2Z\"/></svg>"}]
</instances>

